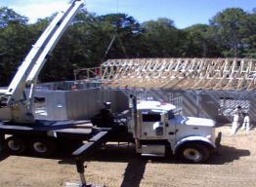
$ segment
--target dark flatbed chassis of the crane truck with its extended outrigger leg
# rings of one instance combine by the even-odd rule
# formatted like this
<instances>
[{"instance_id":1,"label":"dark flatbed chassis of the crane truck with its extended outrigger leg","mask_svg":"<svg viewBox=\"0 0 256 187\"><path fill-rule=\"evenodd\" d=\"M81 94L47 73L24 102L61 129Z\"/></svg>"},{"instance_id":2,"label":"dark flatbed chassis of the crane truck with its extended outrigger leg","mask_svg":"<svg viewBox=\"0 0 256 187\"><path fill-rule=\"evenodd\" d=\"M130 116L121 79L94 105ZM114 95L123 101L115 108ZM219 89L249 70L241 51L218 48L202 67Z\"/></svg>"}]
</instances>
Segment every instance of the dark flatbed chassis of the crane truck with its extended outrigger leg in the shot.
<instances>
[{"instance_id":1,"label":"dark flatbed chassis of the crane truck with its extended outrigger leg","mask_svg":"<svg viewBox=\"0 0 256 187\"><path fill-rule=\"evenodd\" d=\"M15 137L11 138L10 137ZM16 141L11 145L10 141ZM66 143L69 141L73 145L76 140L80 142L79 146L73 150L71 157L74 158L76 169L79 173L81 186L86 186L84 161L99 147L107 141L127 141L133 140L131 134L126 131L124 126L113 126L112 128L96 128L90 121L38 121L34 125L24 124L16 125L12 123L0 122L0 154L7 147L9 152L22 154L24 147L30 147L33 152L37 150L35 156L49 156L53 149L51 143L61 141ZM22 142L20 142L22 141ZM37 149L34 146L36 142L41 143L41 147ZM17 145L15 145L18 143ZM20 143L20 145L19 145ZM44 147L50 152L44 153ZM17 149L16 149L17 148ZM46 150L47 151L47 150Z\"/></svg>"}]
</instances>

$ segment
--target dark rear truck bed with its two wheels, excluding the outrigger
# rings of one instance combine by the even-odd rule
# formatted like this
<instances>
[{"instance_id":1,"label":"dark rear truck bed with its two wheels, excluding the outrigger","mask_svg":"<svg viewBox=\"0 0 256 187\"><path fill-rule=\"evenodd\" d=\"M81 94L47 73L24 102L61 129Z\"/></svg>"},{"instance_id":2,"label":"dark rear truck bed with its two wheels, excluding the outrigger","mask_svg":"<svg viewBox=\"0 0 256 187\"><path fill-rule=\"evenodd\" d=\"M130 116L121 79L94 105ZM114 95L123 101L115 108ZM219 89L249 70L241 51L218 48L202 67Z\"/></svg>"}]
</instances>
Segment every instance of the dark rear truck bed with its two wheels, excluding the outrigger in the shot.
<instances>
[{"instance_id":1,"label":"dark rear truck bed with its two wheels, excluding the outrigger","mask_svg":"<svg viewBox=\"0 0 256 187\"><path fill-rule=\"evenodd\" d=\"M0 147L1 151L5 149L11 154L29 150L35 156L46 157L59 144L75 145L76 142L76 145L82 145L98 132L110 130L95 128L90 121L40 121L34 125L0 122Z\"/></svg>"}]
</instances>

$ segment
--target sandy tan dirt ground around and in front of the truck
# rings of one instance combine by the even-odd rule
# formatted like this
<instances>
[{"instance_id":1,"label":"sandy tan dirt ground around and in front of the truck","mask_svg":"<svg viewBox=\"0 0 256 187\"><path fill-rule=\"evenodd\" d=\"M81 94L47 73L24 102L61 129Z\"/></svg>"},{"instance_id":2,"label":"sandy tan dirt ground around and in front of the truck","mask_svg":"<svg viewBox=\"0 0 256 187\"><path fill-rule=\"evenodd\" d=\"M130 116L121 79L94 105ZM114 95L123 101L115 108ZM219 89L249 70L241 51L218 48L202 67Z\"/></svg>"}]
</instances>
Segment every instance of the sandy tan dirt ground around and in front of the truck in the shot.
<instances>
[{"instance_id":1,"label":"sandy tan dirt ground around and in front of the truck","mask_svg":"<svg viewBox=\"0 0 256 187\"><path fill-rule=\"evenodd\" d=\"M132 146L108 145L86 162L86 179L109 187L188 187L256 186L256 131L230 134L224 126L222 147L207 164L190 165L167 159L144 159ZM65 186L79 181L74 162L68 155L51 159L0 156L0 186Z\"/></svg>"}]
</instances>

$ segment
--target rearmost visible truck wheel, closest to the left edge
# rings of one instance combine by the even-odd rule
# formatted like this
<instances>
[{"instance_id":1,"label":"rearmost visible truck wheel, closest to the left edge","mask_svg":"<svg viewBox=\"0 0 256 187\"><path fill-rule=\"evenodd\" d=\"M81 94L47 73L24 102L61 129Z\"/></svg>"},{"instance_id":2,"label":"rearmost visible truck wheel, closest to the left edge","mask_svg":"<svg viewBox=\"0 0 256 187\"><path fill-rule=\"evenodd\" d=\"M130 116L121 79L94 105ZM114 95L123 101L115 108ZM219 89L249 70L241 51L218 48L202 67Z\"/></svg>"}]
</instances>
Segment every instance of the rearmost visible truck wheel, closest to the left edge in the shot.
<instances>
[{"instance_id":1,"label":"rearmost visible truck wheel, closest to the left edge","mask_svg":"<svg viewBox=\"0 0 256 187\"><path fill-rule=\"evenodd\" d=\"M5 147L8 153L20 155L26 149L25 141L18 136L11 136L5 140Z\"/></svg>"}]
</instances>

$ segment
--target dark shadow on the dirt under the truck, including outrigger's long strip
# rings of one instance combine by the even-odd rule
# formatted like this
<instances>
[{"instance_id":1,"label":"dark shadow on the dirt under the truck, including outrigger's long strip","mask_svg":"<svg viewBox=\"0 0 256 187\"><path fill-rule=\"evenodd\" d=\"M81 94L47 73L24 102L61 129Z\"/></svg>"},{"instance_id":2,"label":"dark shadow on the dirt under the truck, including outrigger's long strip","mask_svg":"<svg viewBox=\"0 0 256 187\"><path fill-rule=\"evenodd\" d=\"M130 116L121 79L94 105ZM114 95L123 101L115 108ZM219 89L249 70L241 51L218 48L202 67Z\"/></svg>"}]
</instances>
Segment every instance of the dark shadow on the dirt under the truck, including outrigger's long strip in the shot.
<instances>
[{"instance_id":1,"label":"dark shadow on the dirt under the truck, including outrigger's long strip","mask_svg":"<svg viewBox=\"0 0 256 187\"><path fill-rule=\"evenodd\" d=\"M46 159L58 160L59 164L75 165L74 158L70 156L70 154L71 152L60 151L55 156ZM212 155L206 165L224 165L249 155L250 152L248 150L221 146L219 152ZM22 156L29 157L28 155ZM6 158L8 158L7 154L0 153L0 162ZM127 144L120 146L112 144L107 145L106 147L96 151L92 156L90 156L90 158L87 158L86 161L112 162L113 164L115 162L127 163L121 187L139 187L148 162L162 164L185 164L176 159L174 156L165 158L142 158L140 155L135 153L135 147L133 145L128 146Z\"/></svg>"}]
</instances>

